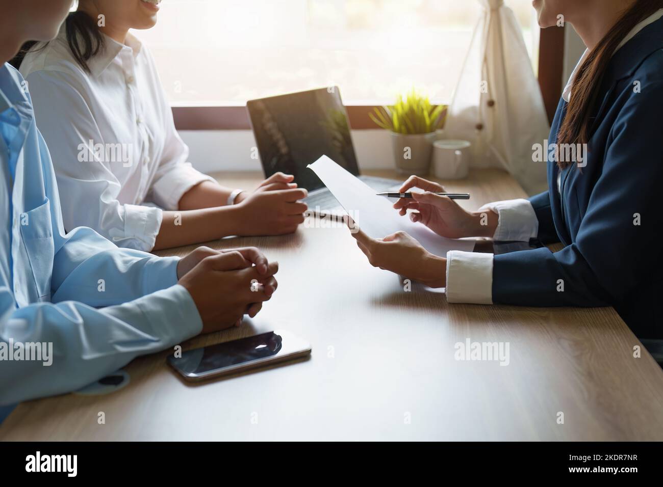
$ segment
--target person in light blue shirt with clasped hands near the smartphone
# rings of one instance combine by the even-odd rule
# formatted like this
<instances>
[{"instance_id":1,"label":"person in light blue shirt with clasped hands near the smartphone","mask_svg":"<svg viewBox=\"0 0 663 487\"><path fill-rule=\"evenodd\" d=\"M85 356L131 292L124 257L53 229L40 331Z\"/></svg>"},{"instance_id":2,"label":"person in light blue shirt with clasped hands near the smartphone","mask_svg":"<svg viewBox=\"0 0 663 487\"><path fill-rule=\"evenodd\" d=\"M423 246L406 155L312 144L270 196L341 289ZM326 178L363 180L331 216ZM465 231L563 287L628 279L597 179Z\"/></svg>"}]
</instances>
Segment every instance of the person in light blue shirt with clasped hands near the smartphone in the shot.
<instances>
[{"instance_id":1,"label":"person in light blue shirt with clasped hands near the smartphone","mask_svg":"<svg viewBox=\"0 0 663 487\"><path fill-rule=\"evenodd\" d=\"M278 264L255 248L160 258L90 228L64 232L29 86L5 62L26 40L55 36L71 3L0 0L0 406L77 390L138 355L239 325L276 289Z\"/></svg>"}]
</instances>

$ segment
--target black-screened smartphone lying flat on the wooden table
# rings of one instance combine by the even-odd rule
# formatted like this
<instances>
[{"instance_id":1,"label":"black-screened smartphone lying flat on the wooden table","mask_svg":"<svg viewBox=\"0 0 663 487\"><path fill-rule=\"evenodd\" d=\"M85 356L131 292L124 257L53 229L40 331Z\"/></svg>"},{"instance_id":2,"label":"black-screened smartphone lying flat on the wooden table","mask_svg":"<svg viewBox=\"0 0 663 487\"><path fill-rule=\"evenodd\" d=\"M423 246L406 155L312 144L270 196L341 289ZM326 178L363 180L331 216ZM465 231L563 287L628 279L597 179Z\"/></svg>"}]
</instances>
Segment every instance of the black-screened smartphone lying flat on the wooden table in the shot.
<instances>
[{"instance_id":1,"label":"black-screened smartphone lying flat on the wooden table","mask_svg":"<svg viewBox=\"0 0 663 487\"><path fill-rule=\"evenodd\" d=\"M167 362L184 379L206 380L251 368L292 360L311 353L309 345L289 331L276 330L168 356Z\"/></svg>"}]
</instances>

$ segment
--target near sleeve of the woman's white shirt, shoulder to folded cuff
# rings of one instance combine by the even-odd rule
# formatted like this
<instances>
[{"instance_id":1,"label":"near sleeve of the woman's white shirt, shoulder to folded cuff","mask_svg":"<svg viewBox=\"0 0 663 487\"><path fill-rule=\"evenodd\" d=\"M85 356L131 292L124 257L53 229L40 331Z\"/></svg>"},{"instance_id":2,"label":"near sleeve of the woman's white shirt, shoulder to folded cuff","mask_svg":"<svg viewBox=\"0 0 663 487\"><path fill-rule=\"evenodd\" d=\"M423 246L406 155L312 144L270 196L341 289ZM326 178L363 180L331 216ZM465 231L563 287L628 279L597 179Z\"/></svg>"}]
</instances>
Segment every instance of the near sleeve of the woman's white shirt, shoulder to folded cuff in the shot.
<instances>
[{"instance_id":1,"label":"near sleeve of the woman's white shirt, shoulder to folded cuff","mask_svg":"<svg viewBox=\"0 0 663 487\"><path fill-rule=\"evenodd\" d=\"M120 203L122 186L110 163L90 150L90 141L108 141L80 94L84 90L76 89L82 81L61 72L46 76L42 71L27 80L37 125L55 168L65 229L91 227L119 246L152 250L162 210ZM86 154L83 161L82 153Z\"/></svg>"}]
</instances>

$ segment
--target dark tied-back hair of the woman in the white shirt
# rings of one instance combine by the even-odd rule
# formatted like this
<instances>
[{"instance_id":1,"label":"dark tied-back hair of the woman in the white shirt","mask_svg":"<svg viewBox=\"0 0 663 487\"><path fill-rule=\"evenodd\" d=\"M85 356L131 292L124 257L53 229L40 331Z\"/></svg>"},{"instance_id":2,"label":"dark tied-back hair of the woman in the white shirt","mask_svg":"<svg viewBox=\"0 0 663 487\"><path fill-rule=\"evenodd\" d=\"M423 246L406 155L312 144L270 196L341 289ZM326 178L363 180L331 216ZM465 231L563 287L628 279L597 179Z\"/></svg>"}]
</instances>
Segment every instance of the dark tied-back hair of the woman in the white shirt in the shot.
<instances>
[{"instance_id":1,"label":"dark tied-back hair of the woman in the white shirt","mask_svg":"<svg viewBox=\"0 0 663 487\"><path fill-rule=\"evenodd\" d=\"M71 12L66 20L65 29L67 36L67 44L74 56L78 65L86 72L90 73L90 66L88 61L95 56L99 50L103 49L103 34L97 27L97 23L90 15L84 11ZM19 50L10 62L16 69L21 67L23 58L30 50L40 50L46 47L48 42L37 42L36 40L29 40Z\"/></svg>"}]
</instances>

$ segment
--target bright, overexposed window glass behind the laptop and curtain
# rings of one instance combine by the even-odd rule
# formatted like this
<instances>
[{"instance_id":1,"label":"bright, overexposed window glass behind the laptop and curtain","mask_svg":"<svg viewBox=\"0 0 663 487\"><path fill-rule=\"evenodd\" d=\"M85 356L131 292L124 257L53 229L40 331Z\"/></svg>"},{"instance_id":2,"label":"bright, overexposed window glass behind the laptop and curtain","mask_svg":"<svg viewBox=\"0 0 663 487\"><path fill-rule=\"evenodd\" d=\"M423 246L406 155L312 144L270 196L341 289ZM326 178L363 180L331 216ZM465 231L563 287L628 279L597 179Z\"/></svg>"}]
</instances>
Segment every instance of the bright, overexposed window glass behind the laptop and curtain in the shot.
<instances>
[{"instance_id":1,"label":"bright, overexposed window glass behind the laptop and curtain","mask_svg":"<svg viewBox=\"0 0 663 487\"><path fill-rule=\"evenodd\" d=\"M532 63L530 0L507 0ZM389 103L417 87L449 102L481 7L478 0L166 0L152 51L173 105L339 85L346 104Z\"/></svg>"}]
</instances>

